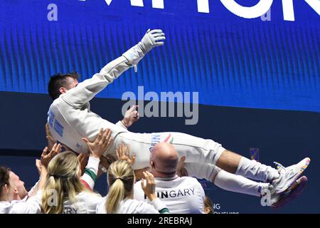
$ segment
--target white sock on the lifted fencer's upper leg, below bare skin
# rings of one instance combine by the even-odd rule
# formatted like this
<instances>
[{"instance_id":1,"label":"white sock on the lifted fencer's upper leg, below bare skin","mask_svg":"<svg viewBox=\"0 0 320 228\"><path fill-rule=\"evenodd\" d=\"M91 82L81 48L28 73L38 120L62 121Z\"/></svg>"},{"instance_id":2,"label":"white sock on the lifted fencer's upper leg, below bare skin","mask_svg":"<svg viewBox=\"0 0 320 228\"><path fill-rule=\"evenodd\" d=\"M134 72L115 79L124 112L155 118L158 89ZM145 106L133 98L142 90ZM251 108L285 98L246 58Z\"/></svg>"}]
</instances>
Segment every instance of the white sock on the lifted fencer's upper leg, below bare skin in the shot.
<instances>
[{"instance_id":1,"label":"white sock on the lifted fencer's upper leg, below bare skin","mask_svg":"<svg viewBox=\"0 0 320 228\"><path fill-rule=\"evenodd\" d=\"M271 182L274 179L279 178L278 170L271 166L262 165L255 160L249 160L247 157L242 157L236 175L247 177L252 180L261 180L263 182Z\"/></svg>"}]
</instances>

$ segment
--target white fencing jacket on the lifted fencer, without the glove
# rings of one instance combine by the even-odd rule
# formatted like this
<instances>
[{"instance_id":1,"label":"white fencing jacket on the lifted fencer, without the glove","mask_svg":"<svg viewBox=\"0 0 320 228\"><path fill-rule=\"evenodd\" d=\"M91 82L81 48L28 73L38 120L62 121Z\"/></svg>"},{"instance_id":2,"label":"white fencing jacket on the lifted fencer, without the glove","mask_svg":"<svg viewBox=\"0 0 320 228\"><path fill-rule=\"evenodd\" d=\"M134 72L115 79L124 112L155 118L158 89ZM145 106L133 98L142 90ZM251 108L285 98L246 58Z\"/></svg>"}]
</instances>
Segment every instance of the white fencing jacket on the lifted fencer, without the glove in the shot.
<instances>
[{"instance_id":1,"label":"white fencing jacket on the lifted fencer, without the glove","mask_svg":"<svg viewBox=\"0 0 320 228\"><path fill-rule=\"evenodd\" d=\"M100 128L112 130L112 137L126 132L127 129L121 121L117 124L110 123L92 113L89 101L130 67L132 65L127 58L121 56L108 63L100 73L55 99L48 111L48 123L53 138L75 152L82 153L88 151L82 138L95 140Z\"/></svg>"}]
</instances>

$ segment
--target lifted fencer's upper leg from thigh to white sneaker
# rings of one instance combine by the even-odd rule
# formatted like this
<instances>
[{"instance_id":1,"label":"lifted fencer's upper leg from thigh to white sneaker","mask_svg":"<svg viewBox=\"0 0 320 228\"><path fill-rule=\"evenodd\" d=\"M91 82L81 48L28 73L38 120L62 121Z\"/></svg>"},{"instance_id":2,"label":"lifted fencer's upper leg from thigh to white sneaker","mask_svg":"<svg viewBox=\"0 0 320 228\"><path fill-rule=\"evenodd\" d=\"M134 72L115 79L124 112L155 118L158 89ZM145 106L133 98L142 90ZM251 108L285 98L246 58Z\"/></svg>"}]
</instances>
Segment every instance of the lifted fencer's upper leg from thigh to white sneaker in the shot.
<instances>
[{"instance_id":1,"label":"lifted fencer's upper leg from thigh to white sneaker","mask_svg":"<svg viewBox=\"0 0 320 228\"><path fill-rule=\"evenodd\" d=\"M247 177L252 180L270 182L277 193L286 191L302 174L309 165L310 159L306 157L296 165L283 167L278 165L277 169L263 165L255 160L225 150L222 145L213 140L205 140L183 133L161 133L168 135L180 156L186 156L186 162L200 164L211 164L221 169Z\"/></svg>"}]
</instances>

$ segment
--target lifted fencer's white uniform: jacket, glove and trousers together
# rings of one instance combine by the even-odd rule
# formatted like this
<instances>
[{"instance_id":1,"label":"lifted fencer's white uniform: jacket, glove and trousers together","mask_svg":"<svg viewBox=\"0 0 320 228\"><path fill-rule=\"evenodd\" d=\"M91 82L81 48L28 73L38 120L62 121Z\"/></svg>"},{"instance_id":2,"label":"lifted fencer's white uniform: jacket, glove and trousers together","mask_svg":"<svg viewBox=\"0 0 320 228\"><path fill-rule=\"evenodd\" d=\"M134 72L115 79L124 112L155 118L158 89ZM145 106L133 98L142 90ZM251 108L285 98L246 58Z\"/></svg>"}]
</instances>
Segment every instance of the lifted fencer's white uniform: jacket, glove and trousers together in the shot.
<instances>
[{"instance_id":1,"label":"lifted fencer's white uniform: jacket, glove and trousers together","mask_svg":"<svg viewBox=\"0 0 320 228\"><path fill-rule=\"evenodd\" d=\"M214 165L225 149L213 140L204 140L184 133L131 133L121 121L110 123L90 111L89 101L97 93L121 73L137 65L145 53L154 46L161 45L159 41L163 39L164 33L161 30L149 31L141 42L108 63L100 73L55 99L48 111L48 123L53 138L75 152L87 152L87 145L82 138L94 140L100 128L110 128L114 143L105 154L112 153L116 157L114 151L119 144L130 145L131 152L137 155L135 170L149 166L149 149L158 142L171 142L179 155L186 156L186 162L206 162Z\"/></svg>"}]
</instances>

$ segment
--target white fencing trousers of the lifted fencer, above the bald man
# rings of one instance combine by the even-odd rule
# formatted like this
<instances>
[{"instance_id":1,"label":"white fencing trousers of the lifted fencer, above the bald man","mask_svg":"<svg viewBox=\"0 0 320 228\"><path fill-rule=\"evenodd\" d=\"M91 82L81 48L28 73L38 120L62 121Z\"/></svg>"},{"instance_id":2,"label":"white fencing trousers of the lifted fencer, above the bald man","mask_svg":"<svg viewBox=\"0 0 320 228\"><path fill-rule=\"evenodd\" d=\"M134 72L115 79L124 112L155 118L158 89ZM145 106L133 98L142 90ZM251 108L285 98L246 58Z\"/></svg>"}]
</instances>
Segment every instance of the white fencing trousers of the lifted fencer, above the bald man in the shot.
<instances>
[{"instance_id":1,"label":"white fencing trousers of the lifted fencer, above the bald man","mask_svg":"<svg viewBox=\"0 0 320 228\"><path fill-rule=\"evenodd\" d=\"M130 155L136 154L134 170L149 167L150 149L159 142L170 142L179 157L186 156L186 162L215 165L225 151L218 142L205 140L184 133L119 133L106 154L117 157L115 149L120 144L129 145Z\"/></svg>"}]
</instances>

